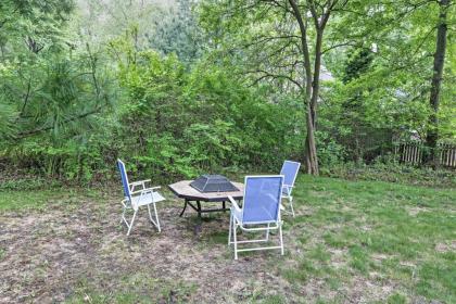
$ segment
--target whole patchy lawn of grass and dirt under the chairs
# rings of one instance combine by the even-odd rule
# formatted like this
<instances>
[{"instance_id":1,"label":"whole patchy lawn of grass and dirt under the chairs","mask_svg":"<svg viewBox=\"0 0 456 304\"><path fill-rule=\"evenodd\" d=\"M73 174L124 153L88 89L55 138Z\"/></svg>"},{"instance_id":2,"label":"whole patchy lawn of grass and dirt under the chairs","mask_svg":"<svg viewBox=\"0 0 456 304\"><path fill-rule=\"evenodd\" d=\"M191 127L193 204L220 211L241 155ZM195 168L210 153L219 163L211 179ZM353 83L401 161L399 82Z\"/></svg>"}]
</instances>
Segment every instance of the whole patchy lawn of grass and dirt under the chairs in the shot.
<instances>
[{"instance_id":1,"label":"whole patchy lawn of grass and dirt under the chairs","mask_svg":"<svg viewBox=\"0 0 456 304\"><path fill-rule=\"evenodd\" d=\"M121 187L0 192L0 303L456 303L456 191L302 175L286 255L227 246L228 214L145 210Z\"/></svg>"}]
</instances>

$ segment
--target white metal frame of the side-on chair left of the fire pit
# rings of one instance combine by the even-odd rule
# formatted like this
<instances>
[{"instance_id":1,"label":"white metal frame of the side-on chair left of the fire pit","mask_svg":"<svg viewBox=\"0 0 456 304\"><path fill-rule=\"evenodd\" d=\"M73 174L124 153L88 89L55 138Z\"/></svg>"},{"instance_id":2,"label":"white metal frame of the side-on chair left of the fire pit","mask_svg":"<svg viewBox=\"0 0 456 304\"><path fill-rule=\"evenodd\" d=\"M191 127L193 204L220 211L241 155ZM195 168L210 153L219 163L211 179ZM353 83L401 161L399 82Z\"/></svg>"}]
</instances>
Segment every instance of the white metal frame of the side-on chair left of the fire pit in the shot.
<instances>
[{"instance_id":1,"label":"white metal frame of the side-on chair left of the fire pit","mask_svg":"<svg viewBox=\"0 0 456 304\"><path fill-rule=\"evenodd\" d=\"M124 163L122 161L119 161L119 162L124 166L124 170L125 170ZM159 187L150 187L150 188L147 188L145 187L145 182L151 182L150 179L144 179L144 180L139 180L139 181L128 182L128 176L127 176L127 173L126 172L125 172L125 179L126 179L126 182L128 185L129 197L125 197L125 199L121 202L122 205L123 205L121 224L124 221L125 225L127 225L127 227L128 227L127 236L130 235L132 225L134 225L135 219L136 219L136 214L138 213L139 207L142 206L142 205L147 205L148 206L149 219L156 227L156 229L159 230L159 232L161 232L162 229L160 227L159 214L156 213L156 206L155 206L155 203L156 202L154 201L154 195L153 195L154 192L160 195L160 193L156 192L155 190L160 189L161 187L159 186ZM135 188L137 188L138 186L141 186L142 189L135 190ZM145 195L149 194L149 193L151 194L151 198L152 198L151 202L145 203L145 204L139 204L139 202L141 202L141 200L143 198L145 198ZM160 197L162 197L162 195L160 195ZM162 200L164 200L164 198ZM151 212L151 206L150 205L153 205L153 211L154 211L154 214L155 214L155 220L152 218L152 212ZM131 217L130 223L128 223L127 218L125 217L125 214L126 214L126 212L128 210L132 210L134 211L134 215Z\"/></svg>"}]
</instances>

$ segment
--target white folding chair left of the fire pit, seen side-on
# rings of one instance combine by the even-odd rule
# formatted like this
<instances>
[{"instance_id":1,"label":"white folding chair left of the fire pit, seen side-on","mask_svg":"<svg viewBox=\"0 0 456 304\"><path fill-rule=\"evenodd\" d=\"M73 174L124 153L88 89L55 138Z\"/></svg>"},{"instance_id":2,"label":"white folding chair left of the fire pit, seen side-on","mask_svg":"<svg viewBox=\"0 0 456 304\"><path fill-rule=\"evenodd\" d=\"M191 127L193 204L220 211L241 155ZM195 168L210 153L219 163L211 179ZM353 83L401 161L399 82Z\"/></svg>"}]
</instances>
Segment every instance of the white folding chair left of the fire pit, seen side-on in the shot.
<instances>
[{"instance_id":1,"label":"white folding chair left of the fire pit, seen side-on","mask_svg":"<svg viewBox=\"0 0 456 304\"><path fill-rule=\"evenodd\" d=\"M122 205L124 206L121 223L124 221L128 227L127 236L130 235L131 227L134 225L136 214L138 213L138 210L140 206L148 206L149 211L149 218L152 221L152 224L159 229L159 232L161 231L160 228L160 220L159 220L159 214L156 213L156 206L155 203L164 201L165 198L162 197L156 190L161 187L152 187L152 188L145 188L145 183L150 182L150 179L135 181L135 182L128 182L128 176L127 172L125 170L125 164L117 160L117 167L121 172L122 177L122 185L124 187L124 195L125 199L122 201ZM138 187L140 187L139 190L136 190ZM155 214L155 220L152 218L152 212L151 206L153 205L153 211ZM134 215L131 217L130 223L125 218L125 214L128 210L134 211Z\"/></svg>"}]
</instances>

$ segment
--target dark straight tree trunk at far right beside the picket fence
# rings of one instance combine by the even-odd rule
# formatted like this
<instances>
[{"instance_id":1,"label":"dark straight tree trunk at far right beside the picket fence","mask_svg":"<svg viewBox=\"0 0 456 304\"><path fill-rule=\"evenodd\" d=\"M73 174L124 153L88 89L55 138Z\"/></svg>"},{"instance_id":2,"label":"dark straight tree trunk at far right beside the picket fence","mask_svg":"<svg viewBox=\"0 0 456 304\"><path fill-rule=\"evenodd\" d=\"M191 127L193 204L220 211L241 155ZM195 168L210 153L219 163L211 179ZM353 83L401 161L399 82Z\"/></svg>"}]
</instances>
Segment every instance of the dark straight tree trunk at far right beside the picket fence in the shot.
<instances>
[{"instance_id":1,"label":"dark straight tree trunk at far right beside the picket fence","mask_svg":"<svg viewBox=\"0 0 456 304\"><path fill-rule=\"evenodd\" d=\"M440 103L440 89L442 85L442 75L443 75L443 65L445 62L445 52L446 52L446 11L449 7L449 0L439 1L440 14L439 14L439 25L436 34L436 46L434 53L434 66L433 75L431 80L431 96L429 103L431 105L431 114L429 116L429 129L426 136L426 142L428 147L428 153L426 157L426 163L431 164L432 166L438 165L436 160L436 145L439 140L439 103Z\"/></svg>"}]
</instances>

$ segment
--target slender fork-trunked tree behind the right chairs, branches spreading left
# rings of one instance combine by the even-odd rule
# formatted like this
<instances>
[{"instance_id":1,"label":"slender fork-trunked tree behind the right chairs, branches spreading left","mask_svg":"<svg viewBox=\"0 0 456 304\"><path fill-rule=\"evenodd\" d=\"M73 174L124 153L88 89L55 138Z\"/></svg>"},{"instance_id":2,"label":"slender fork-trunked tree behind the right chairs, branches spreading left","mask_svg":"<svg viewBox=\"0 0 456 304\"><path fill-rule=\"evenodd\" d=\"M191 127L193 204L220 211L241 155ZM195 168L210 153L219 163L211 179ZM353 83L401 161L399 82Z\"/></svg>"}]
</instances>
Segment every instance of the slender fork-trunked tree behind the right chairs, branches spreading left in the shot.
<instances>
[{"instance_id":1,"label":"slender fork-trunked tree behind the right chairs, branches spreading left","mask_svg":"<svg viewBox=\"0 0 456 304\"><path fill-rule=\"evenodd\" d=\"M213 38L216 50L224 49L226 43L225 54L242 64L243 72L255 79L254 84L274 81L280 90L301 94L306 117L306 168L314 175L319 173L315 129L324 34L330 16L346 3L343 0L225 0L206 1L202 5L203 26L218 35Z\"/></svg>"}]
</instances>

